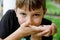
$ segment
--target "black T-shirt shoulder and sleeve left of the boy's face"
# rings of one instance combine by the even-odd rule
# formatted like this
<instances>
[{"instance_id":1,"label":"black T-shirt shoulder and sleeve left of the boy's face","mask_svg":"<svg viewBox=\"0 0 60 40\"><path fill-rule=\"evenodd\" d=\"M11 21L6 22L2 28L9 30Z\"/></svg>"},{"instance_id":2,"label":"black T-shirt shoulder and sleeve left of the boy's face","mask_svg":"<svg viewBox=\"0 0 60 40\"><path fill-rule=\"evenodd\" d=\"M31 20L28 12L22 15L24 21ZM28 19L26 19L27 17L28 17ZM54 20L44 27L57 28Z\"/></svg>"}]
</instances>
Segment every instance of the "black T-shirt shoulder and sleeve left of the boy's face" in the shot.
<instances>
[{"instance_id":1,"label":"black T-shirt shoulder and sleeve left of the boy's face","mask_svg":"<svg viewBox=\"0 0 60 40\"><path fill-rule=\"evenodd\" d=\"M0 21L0 37L5 38L18 28L18 20L14 10L8 10Z\"/></svg>"}]
</instances>

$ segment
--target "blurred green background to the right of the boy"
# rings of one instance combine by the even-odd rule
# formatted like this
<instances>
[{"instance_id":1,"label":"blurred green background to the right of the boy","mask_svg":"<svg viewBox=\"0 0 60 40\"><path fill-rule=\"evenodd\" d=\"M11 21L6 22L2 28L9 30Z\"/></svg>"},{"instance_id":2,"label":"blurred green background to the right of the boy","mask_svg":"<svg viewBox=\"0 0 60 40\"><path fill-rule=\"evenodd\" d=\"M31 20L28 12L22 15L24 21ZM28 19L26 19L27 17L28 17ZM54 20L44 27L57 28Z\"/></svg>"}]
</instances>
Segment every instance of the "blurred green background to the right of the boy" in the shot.
<instances>
[{"instance_id":1,"label":"blurred green background to the right of the boy","mask_svg":"<svg viewBox=\"0 0 60 40\"><path fill-rule=\"evenodd\" d=\"M53 40L60 40L60 0L46 0L46 8L45 18L55 23L58 30Z\"/></svg>"}]
</instances>

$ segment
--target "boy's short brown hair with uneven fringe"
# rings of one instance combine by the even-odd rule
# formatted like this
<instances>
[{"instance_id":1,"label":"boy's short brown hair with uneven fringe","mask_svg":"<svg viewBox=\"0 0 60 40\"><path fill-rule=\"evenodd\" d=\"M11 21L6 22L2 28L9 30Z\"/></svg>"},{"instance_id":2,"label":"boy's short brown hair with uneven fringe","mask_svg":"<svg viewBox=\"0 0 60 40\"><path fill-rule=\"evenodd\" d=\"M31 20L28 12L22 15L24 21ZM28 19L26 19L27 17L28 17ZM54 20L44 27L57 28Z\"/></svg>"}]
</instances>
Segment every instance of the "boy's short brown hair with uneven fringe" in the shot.
<instances>
[{"instance_id":1,"label":"boy's short brown hair with uneven fringe","mask_svg":"<svg viewBox=\"0 0 60 40\"><path fill-rule=\"evenodd\" d=\"M46 8L46 0L16 0L16 8L22 8L24 5L29 6L30 8L39 9L41 6L43 9Z\"/></svg>"}]
</instances>

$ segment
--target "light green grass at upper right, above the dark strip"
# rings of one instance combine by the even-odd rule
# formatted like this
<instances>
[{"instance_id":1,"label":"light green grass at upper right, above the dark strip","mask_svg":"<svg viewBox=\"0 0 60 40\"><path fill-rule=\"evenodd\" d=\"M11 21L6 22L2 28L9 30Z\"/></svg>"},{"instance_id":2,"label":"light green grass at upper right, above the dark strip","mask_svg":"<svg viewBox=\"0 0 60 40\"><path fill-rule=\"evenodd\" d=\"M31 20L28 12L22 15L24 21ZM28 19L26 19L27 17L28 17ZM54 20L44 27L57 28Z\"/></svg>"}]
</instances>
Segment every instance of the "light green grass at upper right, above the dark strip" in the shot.
<instances>
[{"instance_id":1,"label":"light green grass at upper right, above the dark strip","mask_svg":"<svg viewBox=\"0 0 60 40\"><path fill-rule=\"evenodd\" d=\"M60 8L56 7L51 1L46 2L47 13L60 15Z\"/></svg>"}]
</instances>

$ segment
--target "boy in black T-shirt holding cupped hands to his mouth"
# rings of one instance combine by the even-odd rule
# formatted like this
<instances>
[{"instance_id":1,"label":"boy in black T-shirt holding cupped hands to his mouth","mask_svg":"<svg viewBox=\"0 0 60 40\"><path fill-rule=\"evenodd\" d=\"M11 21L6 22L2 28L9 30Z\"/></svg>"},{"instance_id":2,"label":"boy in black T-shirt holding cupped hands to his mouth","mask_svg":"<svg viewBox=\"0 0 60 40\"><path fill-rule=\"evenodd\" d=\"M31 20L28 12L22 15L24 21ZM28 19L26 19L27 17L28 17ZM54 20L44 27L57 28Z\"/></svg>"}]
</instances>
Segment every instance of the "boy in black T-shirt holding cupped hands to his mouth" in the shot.
<instances>
[{"instance_id":1,"label":"boy in black T-shirt holding cupped hands to his mouth","mask_svg":"<svg viewBox=\"0 0 60 40\"><path fill-rule=\"evenodd\" d=\"M52 40L55 32L51 32L52 22L43 18L45 12L45 0L16 0L15 10L7 11L0 22L0 38L30 40L31 36L31 40Z\"/></svg>"}]
</instances>

